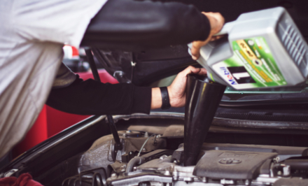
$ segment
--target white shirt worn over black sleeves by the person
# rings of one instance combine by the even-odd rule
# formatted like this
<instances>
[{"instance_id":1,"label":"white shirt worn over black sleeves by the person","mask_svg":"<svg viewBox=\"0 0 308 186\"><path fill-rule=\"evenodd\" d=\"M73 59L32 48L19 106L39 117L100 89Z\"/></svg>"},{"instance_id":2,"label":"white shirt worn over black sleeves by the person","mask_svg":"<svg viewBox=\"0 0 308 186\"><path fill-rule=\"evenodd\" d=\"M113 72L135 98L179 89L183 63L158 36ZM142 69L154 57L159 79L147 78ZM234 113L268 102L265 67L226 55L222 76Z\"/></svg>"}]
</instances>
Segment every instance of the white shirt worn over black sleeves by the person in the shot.
<instances>
[{"instance_id":1,"label":"white shirt worn over black sleeves by the person","mask_svg":"<svg viewBox=\"0 0 308 186\"><path fill-rule=\"evenodd\" d=\"M64 43L78 47L106 0L1 0L0 157L24 138L45 103Z\"/></svg>"}]
</instances>

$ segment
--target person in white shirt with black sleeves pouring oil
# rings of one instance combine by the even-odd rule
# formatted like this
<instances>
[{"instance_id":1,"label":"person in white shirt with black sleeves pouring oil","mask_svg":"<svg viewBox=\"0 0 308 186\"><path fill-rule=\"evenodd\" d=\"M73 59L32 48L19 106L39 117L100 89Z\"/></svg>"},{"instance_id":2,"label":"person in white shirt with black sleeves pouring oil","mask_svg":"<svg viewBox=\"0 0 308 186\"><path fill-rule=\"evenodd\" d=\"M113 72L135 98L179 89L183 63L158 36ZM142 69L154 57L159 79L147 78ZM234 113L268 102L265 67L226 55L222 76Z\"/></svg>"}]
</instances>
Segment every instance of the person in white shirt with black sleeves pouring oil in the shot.
<instances>
[{"instance_id":1,"label":"person in white shirt with black sleeves pouring oil","mask_svg":"<svg viewBox=\"0 0 308 186\"><path fill-rule=\"evenodd\" d=\"M22 140L43 104L71 113L149 113L162 104L159 88L83 81L62 67L69 43L138 50L193 42L200 47L220 31L219 13L194 6L134 0L2 0L0 5L0 157ZM206 73L192 66L168 87L171 106L185 104L186 75ZM67 75L66 83L54 83ZM71 94L73 92L73 95ZM69 96L68 96L69 95Z\"/></svg>"}]
</instances>

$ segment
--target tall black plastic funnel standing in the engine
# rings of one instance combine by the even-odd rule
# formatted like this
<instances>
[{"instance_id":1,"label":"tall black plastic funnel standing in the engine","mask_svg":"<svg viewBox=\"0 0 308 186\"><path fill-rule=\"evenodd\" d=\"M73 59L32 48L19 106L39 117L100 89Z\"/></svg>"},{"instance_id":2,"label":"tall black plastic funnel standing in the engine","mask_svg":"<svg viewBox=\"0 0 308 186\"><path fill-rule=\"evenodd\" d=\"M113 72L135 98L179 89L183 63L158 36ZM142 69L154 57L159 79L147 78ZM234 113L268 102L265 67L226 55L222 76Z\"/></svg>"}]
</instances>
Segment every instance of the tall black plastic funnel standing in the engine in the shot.
<instances>
[{"instance_id":1,"label":"tall black plastic funnel standing in the engine","mask_svg":"<svg viewBox=\"0 0 308 186\"><path fill-rule=\"evenodd\" d=\"M184 125L184 166L197 162L202 143L216 113L225 85L206 76L188 75Z\"/></svg>"}]
</instances>

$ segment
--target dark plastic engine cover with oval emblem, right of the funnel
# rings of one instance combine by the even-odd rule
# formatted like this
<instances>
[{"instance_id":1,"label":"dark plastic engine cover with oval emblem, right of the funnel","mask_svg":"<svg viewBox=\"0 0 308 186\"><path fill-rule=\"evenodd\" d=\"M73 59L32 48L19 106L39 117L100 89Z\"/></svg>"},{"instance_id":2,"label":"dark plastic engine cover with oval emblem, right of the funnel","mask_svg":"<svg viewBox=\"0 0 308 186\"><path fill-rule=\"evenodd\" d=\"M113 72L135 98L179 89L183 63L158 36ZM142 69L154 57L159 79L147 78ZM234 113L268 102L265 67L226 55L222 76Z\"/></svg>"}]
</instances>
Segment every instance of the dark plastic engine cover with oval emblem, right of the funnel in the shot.
<instances>
[{"instance_id":1,"label":"dark plastic engine cover with oval emblem, right of the funnel","mask_svg":"<svg viewBox=\"0 0 308 186\"><path fill-rule=\"evenodd\" d=\"M272 152L235 152L209 150L195 166L194 175L207 178L255 179L260 166L277 154Z\"/></svg>"}]
</instances>

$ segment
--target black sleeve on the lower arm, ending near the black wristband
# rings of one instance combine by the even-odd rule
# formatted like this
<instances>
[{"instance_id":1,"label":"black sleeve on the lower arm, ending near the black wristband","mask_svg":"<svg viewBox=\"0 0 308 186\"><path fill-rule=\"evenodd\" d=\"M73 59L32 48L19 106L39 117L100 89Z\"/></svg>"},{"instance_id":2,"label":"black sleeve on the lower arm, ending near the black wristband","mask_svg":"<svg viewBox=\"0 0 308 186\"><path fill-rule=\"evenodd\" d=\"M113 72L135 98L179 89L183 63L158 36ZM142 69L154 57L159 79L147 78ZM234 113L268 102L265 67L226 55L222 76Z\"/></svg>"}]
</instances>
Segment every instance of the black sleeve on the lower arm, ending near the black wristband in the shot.
<instances>
[{"instance_id":1,"label":"black sleeve on the lower arm, ending near the black wristband","mask_svg":"<svg viewBox=\"0 0 308 186\"><path fill-rule=\"evenodd\" d=\"M71 85L52 89L46 104L79 115L125 115L150 113L151 87L100 83L77 78Z\"/></svg>"}]
</instances>

